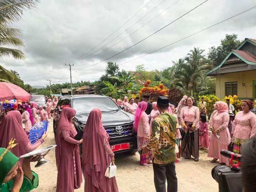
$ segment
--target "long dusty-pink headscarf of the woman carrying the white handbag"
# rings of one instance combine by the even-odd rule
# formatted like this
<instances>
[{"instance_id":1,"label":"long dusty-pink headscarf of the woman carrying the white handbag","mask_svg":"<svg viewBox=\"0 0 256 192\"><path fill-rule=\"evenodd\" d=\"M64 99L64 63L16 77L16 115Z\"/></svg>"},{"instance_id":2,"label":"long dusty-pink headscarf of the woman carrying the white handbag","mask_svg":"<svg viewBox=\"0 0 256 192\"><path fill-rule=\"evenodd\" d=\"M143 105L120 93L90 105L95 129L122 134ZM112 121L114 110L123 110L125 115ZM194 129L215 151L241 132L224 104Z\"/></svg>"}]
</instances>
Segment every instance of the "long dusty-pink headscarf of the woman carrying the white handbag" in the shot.
<instances>
[{"instance_id":1,"label":"long dusty-pink headscarf of the woman carrying the white handbag","mask_svg":"<svg viewBox=\"0 0 256 192\"><path fill-rule=\"evenodd\" d=\"M92 184L99 188L106 188L104 176L109 158L105 155L103 142L109 139L101 122L101 110L93 109L87 119L82 143L82 167L91 176ZM108 141L107 141L108 142ZM107 161L107 162L106 162Z\"/></svg>"}]
</instances>

